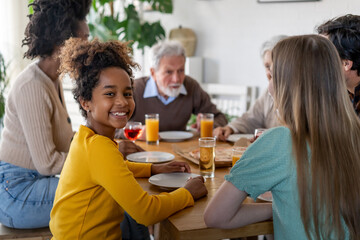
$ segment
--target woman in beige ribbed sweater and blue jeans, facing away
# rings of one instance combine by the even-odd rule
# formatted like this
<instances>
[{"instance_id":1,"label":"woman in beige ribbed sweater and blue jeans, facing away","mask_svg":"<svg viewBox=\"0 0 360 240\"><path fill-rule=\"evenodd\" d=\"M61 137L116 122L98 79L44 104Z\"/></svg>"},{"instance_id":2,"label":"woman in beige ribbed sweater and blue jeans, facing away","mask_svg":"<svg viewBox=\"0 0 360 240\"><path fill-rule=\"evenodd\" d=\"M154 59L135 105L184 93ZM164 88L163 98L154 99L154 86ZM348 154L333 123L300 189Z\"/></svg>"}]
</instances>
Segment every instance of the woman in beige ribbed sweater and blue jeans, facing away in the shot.
<instances>
[{"instance_id":1,"label":"woman in beige ribbed sweater and blue jeans, facing away","mask_svg":"<svg viewBox=\"0 0 360 240\"><path fill-rule=\"evenodd\" d=\"M37 59L12 84L0 144L0 222L11 228L48 226L59 174L73 131L59 52L72 36L87 39L91 0L34 0L24 57ZM29 5L29 6L30 6Z\"/></svg>"}]
</instances>

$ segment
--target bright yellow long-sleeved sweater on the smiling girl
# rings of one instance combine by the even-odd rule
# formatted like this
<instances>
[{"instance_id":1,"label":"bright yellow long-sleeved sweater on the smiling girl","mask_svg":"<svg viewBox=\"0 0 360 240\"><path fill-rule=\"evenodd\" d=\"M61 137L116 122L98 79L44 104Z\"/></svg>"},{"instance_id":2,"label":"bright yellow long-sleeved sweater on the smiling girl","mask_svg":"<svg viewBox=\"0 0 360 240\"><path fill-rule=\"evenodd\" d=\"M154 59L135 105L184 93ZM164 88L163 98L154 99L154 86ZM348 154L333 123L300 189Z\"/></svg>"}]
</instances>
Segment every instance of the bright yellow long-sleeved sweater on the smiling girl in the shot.
<instances>
[{"instance_id":1,"label":"bright yellow long-sleeved sweater on the smiling girl","mask_svg":"<svg viewBox=\"0 0 360 240\"><path fill-rule=\"evenodd\" d=\"M150 175L151 164L124 161L115 142L80 126L56 190L53 239L121 239L124 210L150 225L194 205L184 188L149 195L134 176Z\"/></svg>"}]
</instances>

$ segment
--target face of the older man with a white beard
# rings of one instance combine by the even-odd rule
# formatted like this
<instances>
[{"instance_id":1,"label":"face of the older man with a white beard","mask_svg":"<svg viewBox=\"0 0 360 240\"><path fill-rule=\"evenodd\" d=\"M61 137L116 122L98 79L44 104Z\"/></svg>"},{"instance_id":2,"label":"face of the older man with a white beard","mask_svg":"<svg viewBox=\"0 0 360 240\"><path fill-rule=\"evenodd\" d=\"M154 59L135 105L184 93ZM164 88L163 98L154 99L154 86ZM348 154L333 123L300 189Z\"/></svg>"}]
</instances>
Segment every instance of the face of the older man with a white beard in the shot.
<instances>
[{"instance_id":1,"label":"face of the older man with a white beard","mask_svg":"<svg viewBox=\"0 0 360 240\"><path fill-rule=\"evenodd\" d=\"M177 97L185 79L185 57L165 56L161 58L159 68L150 71L160 95Z\"/></svg>"}]
</instances>

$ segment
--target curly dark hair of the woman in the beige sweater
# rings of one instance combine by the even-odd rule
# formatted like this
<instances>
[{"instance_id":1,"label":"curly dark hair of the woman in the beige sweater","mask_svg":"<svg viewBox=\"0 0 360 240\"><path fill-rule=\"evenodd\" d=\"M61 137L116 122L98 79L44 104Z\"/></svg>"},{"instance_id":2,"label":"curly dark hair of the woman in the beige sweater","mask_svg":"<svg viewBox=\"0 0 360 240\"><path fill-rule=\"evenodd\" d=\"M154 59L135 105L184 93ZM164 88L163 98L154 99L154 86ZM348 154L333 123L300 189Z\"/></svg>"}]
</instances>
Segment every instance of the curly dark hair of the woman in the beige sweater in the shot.
<instances>
[{"instance_id":1,"label":"curly dark hair of the woman in the beige sweater","mask_svg":"<svg viewBox=\"0 0 360 240\"><path fill-rule=\"evenodd\" d=\"M24 57L50 56L56 46L76 35L79 21L86 18L91 0L34 0L34 13L25 29L22 46L29 49ZM76 36L75 36L76 37Z\"/></svg>"}]
</instances>

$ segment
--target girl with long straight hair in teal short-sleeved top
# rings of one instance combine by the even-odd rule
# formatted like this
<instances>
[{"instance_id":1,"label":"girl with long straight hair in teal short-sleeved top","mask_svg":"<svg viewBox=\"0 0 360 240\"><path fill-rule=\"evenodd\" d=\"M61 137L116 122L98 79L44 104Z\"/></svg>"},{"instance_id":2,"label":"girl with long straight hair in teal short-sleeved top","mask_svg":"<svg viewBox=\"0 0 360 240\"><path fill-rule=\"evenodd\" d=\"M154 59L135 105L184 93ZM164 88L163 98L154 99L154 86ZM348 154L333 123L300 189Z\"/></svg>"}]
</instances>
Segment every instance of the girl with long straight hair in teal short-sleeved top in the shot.
<instances>
[{"instance_id":1,"label":"girl with long straight hair in teal short-sleeved top","mask_svg":"<svg viewBox=\"0 0 360 240\"><path fill-rule=\"evenodd\" d=\"M360 121L342 62L323 36L295 36L272 52L274 97L283 127L245 152L205 210L209 227L273 217L275 239L360 238ZM271 191L273 203L246 204Z\"/></svg>"}]
</instances>

